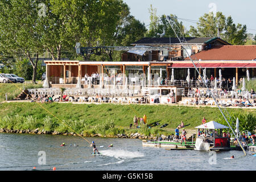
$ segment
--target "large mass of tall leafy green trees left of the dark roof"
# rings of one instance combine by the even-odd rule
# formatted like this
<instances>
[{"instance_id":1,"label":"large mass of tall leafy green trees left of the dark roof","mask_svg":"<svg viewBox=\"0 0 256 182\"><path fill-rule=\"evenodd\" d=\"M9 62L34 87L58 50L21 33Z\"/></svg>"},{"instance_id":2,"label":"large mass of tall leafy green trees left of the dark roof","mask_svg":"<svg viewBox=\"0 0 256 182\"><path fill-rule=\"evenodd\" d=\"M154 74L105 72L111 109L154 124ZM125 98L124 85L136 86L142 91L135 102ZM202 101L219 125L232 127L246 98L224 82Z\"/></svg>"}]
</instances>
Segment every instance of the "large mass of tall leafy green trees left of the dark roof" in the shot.
<instances>
[{"instance_id":1,"label":"large mass of tall leafy green trees left of the dark roof","mask_svg":"<svg viewBox=\"0 0 256 182\"><path fill-rule=\"evenodd\" d=\"M0 30L3 54L26 56L35 80L38 57L44 52L53 60L76 59L76 42L82 47L130 44L143 36L145 27L122 0L3 0ZM113 60L113 51L106 53Z\"/></svg>"}]
</instances>

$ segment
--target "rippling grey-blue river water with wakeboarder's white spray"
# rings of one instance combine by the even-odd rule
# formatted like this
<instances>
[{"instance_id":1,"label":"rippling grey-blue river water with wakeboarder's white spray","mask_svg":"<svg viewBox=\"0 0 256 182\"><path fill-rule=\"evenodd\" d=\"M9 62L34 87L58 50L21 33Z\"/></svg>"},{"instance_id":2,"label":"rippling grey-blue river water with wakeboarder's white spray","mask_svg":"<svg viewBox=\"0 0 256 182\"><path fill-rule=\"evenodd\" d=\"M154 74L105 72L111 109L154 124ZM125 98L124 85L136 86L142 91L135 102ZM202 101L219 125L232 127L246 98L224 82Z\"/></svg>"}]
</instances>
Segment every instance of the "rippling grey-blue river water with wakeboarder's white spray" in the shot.
<instances>
[{"instance_id":1,"label":"rippling grey-blue river water with wakeboarder's white spray","mask_svg":"<svg viewBox=\"0 0 256 182\"><path fill-rule=\"evenodd\" d=\"M0 170L256 170L256 157L242 151L168 151L142 147L139 139L86 139L96 142L101 155L92 155L81 137L0 133ZM63 142L67 146L61 147ZM225 159L232 155L234 159Z\"/></svg>"}]
</instances>

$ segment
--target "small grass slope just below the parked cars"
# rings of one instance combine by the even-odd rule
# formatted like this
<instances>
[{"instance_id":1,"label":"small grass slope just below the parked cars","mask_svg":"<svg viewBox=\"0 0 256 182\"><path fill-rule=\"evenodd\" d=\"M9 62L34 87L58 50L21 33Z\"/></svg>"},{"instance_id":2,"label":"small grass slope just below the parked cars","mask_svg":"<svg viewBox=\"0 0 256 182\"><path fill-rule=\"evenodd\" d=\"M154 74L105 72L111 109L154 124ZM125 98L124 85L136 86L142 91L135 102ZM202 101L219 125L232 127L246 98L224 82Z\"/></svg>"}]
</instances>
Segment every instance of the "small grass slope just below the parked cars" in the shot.
<instances>
[{"instance_id":1,"label":"small grass slope just below the parked cars","mask_svg":"<svg viewBox=\"0 0 256 182\"><path fill-rule=\"evenodd\" d=\"M8 100L13 100L22 92L23 86L25 89L42 88L42 84L0 84L0 102L6 100L6 93Z\"/></svg>"}]
</instances>

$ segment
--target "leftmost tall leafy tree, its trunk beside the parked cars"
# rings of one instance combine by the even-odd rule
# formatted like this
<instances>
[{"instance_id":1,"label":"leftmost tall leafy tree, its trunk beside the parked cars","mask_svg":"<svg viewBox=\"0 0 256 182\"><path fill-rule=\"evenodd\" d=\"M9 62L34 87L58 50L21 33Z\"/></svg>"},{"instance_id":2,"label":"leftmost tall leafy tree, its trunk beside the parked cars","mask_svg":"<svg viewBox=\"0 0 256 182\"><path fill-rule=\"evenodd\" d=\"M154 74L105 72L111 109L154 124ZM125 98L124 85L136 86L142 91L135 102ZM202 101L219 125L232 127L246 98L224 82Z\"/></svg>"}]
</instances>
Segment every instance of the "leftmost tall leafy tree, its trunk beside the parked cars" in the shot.
<instances>
[{"instance_id":1,"label":"leftmost tall leafy tree, its trunk beside the parked cars","mask_svg":"<svg viewBox=\"0 0 256 182\"><path fill-rule=\"evenodd\" d=\"M32 81L36 81L39 52L42 51L38 31L36 1L0 2L0 48L6 55L26 56L33 67ZM35 59L34 59L35 57Z\"/></svg>"}]
</instances>

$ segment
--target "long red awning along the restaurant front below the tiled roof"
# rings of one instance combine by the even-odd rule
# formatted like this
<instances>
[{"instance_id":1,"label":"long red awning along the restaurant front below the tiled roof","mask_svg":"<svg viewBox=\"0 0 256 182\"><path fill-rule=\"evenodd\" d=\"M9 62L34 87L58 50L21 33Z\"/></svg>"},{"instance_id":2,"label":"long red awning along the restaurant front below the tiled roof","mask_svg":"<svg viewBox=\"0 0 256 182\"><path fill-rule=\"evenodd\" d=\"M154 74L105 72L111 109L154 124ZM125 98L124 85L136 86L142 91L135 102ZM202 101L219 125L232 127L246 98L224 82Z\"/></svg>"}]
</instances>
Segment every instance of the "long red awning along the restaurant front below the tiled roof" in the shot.
<instances>
[{"instance_id":1,"label":"long red awning along the restaurant front below the tiled roof","mask_svg":"<svg viewBox=\"0 0 256 182\"><path fill-rule=\"evenodd\" d=\"M195 63L197 68L256 68L256 63ZM172 63L168 68L195 68L192 63Z\"/></svg>"}]
</instances>

